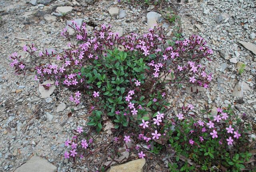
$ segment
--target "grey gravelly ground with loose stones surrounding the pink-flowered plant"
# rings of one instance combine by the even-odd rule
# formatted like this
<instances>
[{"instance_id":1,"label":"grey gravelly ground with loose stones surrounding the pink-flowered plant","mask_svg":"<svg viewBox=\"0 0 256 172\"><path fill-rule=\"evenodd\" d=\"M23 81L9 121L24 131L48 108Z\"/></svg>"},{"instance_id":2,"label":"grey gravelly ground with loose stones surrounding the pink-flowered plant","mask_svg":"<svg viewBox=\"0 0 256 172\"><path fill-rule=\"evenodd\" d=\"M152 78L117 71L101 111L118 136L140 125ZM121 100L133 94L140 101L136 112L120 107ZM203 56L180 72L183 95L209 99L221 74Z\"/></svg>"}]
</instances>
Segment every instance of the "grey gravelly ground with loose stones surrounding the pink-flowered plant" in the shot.
<instances>
[{"instance_id":1,"label":"grey gravelly ground with loose stones surrounding the pink-flowered plant","mask_svg":"<svg viewBox=\"0 0 256 172\"><path fill-rule=\"evenodd\" d=\"M45 158L58 171L96 170L88 169L86 164L75 166L62 156L64 141L72 130L78 125L86 126L86 102L74 108L68 101L70 91L58 88L44 98L47 93L38 88L33 72L16 76L9 66L12 52L25 55L24 44L34 43L40 50L52 48L56 52L67 49L68 42L60 32L68 20L86 22L91 29L111 24L114 31L123 35L146 32L148 25L158 22L172 36L176 24L159 14L172 8L180 16L183 36L198 34L214 50L212 62L205 62L214 76L211 88L198 94L191 93L190 88L181 90L182 96L170 100L172 106L192 102L197 107L194 113L198 114L208 104L232 104L238 114L246 113L255 122L255 5L252 0L188 0L145 8L122 0L0 0L0 172L16 170L33 155ZM239 75L242 63L246 68ZM215 113L216 108L212 111Z\"/></svg>"}]
</instances>

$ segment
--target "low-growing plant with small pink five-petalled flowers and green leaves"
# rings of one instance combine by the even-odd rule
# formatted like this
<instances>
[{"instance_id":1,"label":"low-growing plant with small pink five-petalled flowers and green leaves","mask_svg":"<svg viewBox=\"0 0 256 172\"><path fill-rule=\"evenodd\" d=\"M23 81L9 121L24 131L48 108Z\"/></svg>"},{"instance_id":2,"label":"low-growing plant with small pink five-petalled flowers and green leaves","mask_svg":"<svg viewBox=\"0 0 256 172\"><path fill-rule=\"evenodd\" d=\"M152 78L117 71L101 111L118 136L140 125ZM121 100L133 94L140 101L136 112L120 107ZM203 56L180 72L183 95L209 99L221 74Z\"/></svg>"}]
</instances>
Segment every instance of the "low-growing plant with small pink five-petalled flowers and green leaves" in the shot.
<instances>
[{"instance_id":1,"label":"low-growing plant with small pink five-petalled flowers and green leaves","mask_svg":"<svg viewBox=\"0 0 256 172\"><path fill-rule=\"evenodd\" d=\"M194 106L188 104L175 116L169 114L172 107L166 98L167 87L177 90L186 86L192 91L192 86L209 87L212 74L201 62L210 60L213 52L203 38L193 35L174 42L166 39L162 28L150 29L142 36L132 33L119 37L105 25L88 36L85 23L79 26L72 21L70 27L79 44L68 44L70 49L64 53L41 51L38 61L33 60L37 57L34 44L25 45L23 50L35 65L35 80L54 80L56 86L73 90L70 101L76 106L86 97L91 98L87 124L96 132L101 131L103 122L113 124L113 146L125 144L126 151L138 151L139 158L147 157L145 149L154 154L172 149L177 161L169 163L172 171L209 170L220 160L225 169L232 164L235 170L243 168L241 161L251 156L246 152L249 126L238 118L230 124L234 122L232 110L218 108L213 118L199 119L189 113ZM71 38L66 28L61 35ZM16 74L25 74L31 68L16 52L10 59ZM49 89L52 84L43 86ZM64 157L76 161L93 154L90 149L94 149L94 140L89 134L78 126L75 136L65 142L70 150ZM128 146L131 142L134 144ZM122 154L115 150L109 157L113 160ZM102 168L100 164L98 169Z\"/></svg>"}]
</instances>

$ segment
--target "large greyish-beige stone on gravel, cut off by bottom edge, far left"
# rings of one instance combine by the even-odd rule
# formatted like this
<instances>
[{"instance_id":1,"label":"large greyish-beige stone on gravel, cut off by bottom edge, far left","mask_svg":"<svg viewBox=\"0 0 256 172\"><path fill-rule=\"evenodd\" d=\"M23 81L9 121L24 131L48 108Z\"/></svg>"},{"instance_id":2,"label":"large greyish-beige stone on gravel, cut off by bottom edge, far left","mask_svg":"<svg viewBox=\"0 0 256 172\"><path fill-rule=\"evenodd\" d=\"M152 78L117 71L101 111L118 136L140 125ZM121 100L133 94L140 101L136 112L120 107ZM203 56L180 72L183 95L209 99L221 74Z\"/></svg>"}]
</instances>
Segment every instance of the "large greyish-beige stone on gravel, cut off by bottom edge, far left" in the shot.
<instances>
[{"instance_id":1,"label":"large greyish-beige stone on gravel, cut off by bottom edge, far left","mask_svg":"<svg viewBox=\"0 0 256 172\"><path fill-rule=\"evenodd\" d=\"M28 162L17 168L14 172L56 172L57 167L38 156L32 156Z\"/></svg>"}]
</instances>

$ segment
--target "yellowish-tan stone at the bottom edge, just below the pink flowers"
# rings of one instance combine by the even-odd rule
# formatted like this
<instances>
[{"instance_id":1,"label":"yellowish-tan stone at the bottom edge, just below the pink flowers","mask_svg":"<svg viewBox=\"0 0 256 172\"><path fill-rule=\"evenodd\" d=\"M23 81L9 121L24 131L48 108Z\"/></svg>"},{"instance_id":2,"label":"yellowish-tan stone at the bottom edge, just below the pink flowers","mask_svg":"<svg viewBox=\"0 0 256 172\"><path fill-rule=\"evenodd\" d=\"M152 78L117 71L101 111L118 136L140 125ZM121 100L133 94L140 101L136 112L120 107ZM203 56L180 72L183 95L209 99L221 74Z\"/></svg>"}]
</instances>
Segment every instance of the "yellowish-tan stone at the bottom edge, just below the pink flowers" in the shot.
<instances>
[{"instance_id":1,"label":"yellowish-tan stone at the bottom edge, just below the pink flowers","mask_svg":"<svg viewBox=\"0 0 256 172\"><path fill-rule=\"evenodd\" d=\"M145 158L132 160L121 165L111 166L106 172L143 172Z\"/></svg>"}]
</instances>

